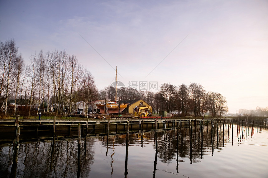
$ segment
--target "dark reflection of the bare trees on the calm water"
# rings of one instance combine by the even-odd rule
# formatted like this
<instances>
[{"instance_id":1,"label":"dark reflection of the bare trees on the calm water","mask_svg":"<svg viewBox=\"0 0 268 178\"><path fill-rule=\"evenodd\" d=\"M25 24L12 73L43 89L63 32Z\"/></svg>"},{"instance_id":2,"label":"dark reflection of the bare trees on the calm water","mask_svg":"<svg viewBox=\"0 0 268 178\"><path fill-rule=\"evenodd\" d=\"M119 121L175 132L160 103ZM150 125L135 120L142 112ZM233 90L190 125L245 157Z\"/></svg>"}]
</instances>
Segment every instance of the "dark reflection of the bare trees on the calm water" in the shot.
<instances>
[{"instance_id":1,"label":"dark reflection of the bare trees on the calm water","mask_svg":"<svg viewBox=\"0 0 268 178\"><path fill-rule=\"evenodd\" d=\"M233 143L233 139L236 136L236 133L233 134L234 129L237 130L237 139L239 142L240 132L243 132L241 127L236 124L228 124L227 127L226 123L215 123L214 127L211 125L195 125L191 129L156 129L157 132L154 130L142 130L140 132L133 130L128 132L129 137L127 137L126 131L120 134L111 132L110 134L105 133L101 136L81 138L82 146L80 148L77 138L64 138L60 140L58 137L54 137L43 140L42 142L24 142L19 144L18 163L15 165L17 166L16 176L76 177L80 165L81 172L79 172L79 176L88 177L91 171L91 165L94 163L95 148L93 143L96 143L96 141L103 147L104 156L108 149L111 152L111 161L109 161L111 176L117 174L115 167L118 164L118 159L114 159L114 157L117 157L119 152L116 151L116 147L125 147L129 144L129 148L133 148L133 146L141 148L141 143L144 147L141 149L145 149L148 144L154 143L154 151L152 150L154 158L151 158L151 161L154 162L154 176L157 174L157 161L158 163L163 162L165 164L176 161L176 168L174 167L174 169L179 173L180 162L200 162L202 161L203 153L207 152L213 155L214 149L220 151L225 146L224 142L231 141ZM230 130L232 133L230 133L229 129L232 129ZM253 128L251 134L254 134ZM231 136L232 140L229 138ZM246 139L245 137L241 137L240 139L243 138ZM80 156L79 152L81 153ZM0 154L1 176L8 177L12 171L12 145L0 146ZM127 163L127 156L130 158L133 156L131 151L128 152L128 148L126 148L125 156L125 176L127 176L129 169L127 166L131 167L130 164L132 164L131 161Z\"/></svg>"}]
</instances>

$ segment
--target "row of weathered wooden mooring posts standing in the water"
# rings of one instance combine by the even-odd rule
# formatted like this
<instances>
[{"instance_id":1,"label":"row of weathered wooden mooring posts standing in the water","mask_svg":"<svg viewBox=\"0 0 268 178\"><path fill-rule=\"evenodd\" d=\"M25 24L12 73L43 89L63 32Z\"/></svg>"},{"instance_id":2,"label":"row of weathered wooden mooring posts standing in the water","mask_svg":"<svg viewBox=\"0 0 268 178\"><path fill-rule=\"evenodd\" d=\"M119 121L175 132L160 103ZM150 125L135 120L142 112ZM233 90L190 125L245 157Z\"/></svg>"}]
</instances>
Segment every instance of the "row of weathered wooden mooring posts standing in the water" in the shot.
<instances>
[{"instance_id":1,"label":"row of weathered wooden mooring posts standing in the water","mask_svg":"<svg viewBox=\"0 0 268 178\"><path fill-rule=\"evenodd\" d=\"M220 120L214 120L215 124L217 125L217 147L218 147L218 138L219 138L219 132L218 132L218 123L222 123L222 119ZM211 146L212 146L212 155L213 155L213 128L214 128L214 121L211 121ZM200 125L200 129L201 129L201 159L202 159L202 155L203 155L203 122L205 124L209 124L209 121L199 121L199 123L194 120L194 127L197 126L198 124ZM206 123L207 122L207 123ZM54 117L54 122L53 122L53 141L55 142L55 132L56 132L56 117ZM257 131L259 129L259 131L263 128L266 127L267 128L267 123L268 123L268 119L264 119L263 123L261 122L261 120L257 120L254 123L254 120L249 120L248 119L238 119L238 120L223 120L223 124L228 123L228 137L229 137L229 126L232 127L232 143L233 143L233 123L237 124L237 136L238 136L238 131L240 133L240 129L243 129L243 126L245 126L246 129L246 134L249 134L249 127L250 127L250 131L251 131L251 135L254 134L254 128L255 125L257 127ZM142 119L141 122L139 122L140 124L140 128L141 128L141 146L143 144L143 124L144 124L144 120ZM166 129L166 120L163 123L164 124L164 129ZM229 125L230 124L230 125ZM156 155L155 155L155 161L154 161L154 173L153 173L153 177L155 177L155 173L156 173L156 165L157 165L157 154L158 154L158 147L157 147L157 119L155 119L154 122L154 130L155 130L155 148L156 148ZM186 125L186 124L185 124ZM188 121L188 125L189 125L189 131L190 131L190 160L192 163L192 127L193 127L193 123L191 122L191 120ZM19 126L19 122L18 122L18 118L16 119L15 122L15 126L17 127L16 129L16 138L13 144L13 164L12 164L12 171L11 171L11 177L16 177L16 171L17 171L17 163L18 163L18 148L19 148L19 137L20 137L20 130L21 127ZM130 126L130 121L127 121L127 131L126 131L126 157L125 157L125 177L127 177L128 171L127 171L127 161L128 161L128 146L129 146L129 126ZM172 123L172 126L175 127L175 120ZM178 134L179 134L179 129L182 126L182 123L180 121L177 120L177 138L178 138ZM78 128L78 172L77 172L77 177L80 176L80 172L81 172L81 159L80 159L80 152L81 152L81 124L78 123L77 125ZM107 135L109 136L109 130L110 128L110 121L108 120L108 124L107 124ZM86 133L85 133L85 140L87 139L87 135L88 135L88 120L87 120L87 124L86 124ZM241 135L241 134L240 134ZM241 136L240 136L241 138ZM108 139L108 137L107 137ZM243 134L242 134L242 139L243 139ZM223 140L224 140L224 126L223 126ZM86 141L85 141L86 142ZM177 139L178 142L178 139ZM177 144L178 147L178 144ZM223 141L223 147L224 147L224 141ZM107 148L108 148L108 140L107 140ZM177 149L177 172L178 172L178 149Z\"/></svg>"}]
</instances>

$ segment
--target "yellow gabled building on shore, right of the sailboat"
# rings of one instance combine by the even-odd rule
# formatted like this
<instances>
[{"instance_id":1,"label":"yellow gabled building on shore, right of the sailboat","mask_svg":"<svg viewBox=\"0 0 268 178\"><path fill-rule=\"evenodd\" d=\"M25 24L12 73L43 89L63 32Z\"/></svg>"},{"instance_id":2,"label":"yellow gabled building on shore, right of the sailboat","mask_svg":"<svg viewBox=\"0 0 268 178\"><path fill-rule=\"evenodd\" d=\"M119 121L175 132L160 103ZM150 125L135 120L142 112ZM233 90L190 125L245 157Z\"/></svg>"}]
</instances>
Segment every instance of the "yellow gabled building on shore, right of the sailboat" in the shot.
<instances>
[{"instance_id":1,"label":"yellow gabled building on shore, right of the sailboat","mask_svg":"<svg viewBox=\"0 0 268 178\"><path fill-rule=\"evenodd\" d=\"M152 113L152 110L153 110L153 107L143 99L125 100L125 101L120 101L120 103L127 103L127 107L123 112L129 113L129 114L134 114L133 110L135 109L136 106L148 107L148 109L145 109L146 111L148 111L148 113Z\"/></svg>"}]
</instances>

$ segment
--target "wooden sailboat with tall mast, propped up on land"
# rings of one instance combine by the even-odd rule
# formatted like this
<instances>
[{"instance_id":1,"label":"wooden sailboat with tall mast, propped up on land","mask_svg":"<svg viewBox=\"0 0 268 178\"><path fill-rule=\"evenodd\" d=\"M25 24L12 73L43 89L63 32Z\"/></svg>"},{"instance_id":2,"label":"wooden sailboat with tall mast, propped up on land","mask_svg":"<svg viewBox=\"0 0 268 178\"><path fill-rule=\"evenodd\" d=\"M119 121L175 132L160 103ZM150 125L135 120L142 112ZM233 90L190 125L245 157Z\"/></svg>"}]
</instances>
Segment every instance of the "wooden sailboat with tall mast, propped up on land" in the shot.
<instances>
[{"instance_id":1,"label":"wooden sailboat with tall mast, propped up on land","mask_svg":"<svg viewBox=\"0 0 268 178\"><path fill-rule=\"evenodd\" d=\"M115 114L120 113L127 107L127 103L117 104L117 66L115 70L115 102L113 101L104 101L96 104L97 108L100 110L100 114Z\"/></svg>"}]
</instances>

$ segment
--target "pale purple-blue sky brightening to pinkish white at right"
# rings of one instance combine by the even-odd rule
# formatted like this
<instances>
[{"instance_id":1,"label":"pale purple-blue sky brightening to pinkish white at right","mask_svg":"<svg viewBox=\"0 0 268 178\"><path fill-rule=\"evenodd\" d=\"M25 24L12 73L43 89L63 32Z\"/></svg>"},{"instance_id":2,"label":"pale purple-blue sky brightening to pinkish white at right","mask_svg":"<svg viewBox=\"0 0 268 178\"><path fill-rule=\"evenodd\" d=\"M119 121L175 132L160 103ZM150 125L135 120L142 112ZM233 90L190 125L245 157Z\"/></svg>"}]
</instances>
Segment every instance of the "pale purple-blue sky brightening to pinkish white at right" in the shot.
<instances>
[{"instance_id":1,"label":"pale purple-blue sky brightening to pinkish white at right","mask_svg":"<svg viewBox=\"0 0 268 178\"><path fill-rule=\"evenodd\" d=\"M98 89L200 83L229 113L268 107L267 0L0 1L0 41L31 54L66 50ZM147 88L146 88L147 87Z\"/></svg>"}]
</instances>

